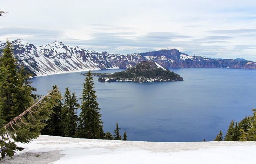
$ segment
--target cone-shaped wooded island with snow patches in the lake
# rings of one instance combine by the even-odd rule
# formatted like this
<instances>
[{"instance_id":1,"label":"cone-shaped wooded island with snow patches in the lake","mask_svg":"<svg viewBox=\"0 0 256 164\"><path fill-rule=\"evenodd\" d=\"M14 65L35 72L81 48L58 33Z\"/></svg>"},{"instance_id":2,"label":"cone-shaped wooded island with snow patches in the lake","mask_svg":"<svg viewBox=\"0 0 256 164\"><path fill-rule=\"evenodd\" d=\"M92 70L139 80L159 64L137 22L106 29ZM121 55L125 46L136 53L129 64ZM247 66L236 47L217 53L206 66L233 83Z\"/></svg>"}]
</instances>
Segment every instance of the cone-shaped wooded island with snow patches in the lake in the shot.
<instances>
[{"instance_id":1,"label":"cone-shaped wooded island with snow patches in the lake","mask_svg":"<svg viewBox=\"0 0 256 164\"><path fill-rule=\"evenodd\" d=\"M137 83L183 81L180 75L170 71L156 62L143 61L132 68L122 72L110 74L107 77L99 77L100 82L132 81Z\"/></svg>"}]
</instances>

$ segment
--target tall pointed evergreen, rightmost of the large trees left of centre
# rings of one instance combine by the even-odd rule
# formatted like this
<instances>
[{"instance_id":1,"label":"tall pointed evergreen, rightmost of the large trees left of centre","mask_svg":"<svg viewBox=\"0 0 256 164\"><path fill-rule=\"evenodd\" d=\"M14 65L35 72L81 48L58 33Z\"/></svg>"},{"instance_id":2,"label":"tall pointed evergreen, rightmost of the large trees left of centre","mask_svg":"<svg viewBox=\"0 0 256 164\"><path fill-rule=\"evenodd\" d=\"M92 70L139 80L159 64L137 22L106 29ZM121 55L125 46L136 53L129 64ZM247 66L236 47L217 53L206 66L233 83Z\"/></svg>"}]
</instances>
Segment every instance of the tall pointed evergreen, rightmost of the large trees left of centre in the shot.
<instances>
[{"instance_id":1,"label":"tall pointed evergreen, rightmost of the large trees left of centre","mask_svg":"<svg viewBox=\"0 0 256 164\"><path fill-rule=\"evenodd\" d=\"M96 100L91 72L87 73L83 83L82 105L80 113L78 137L100 139L104 136L100 108Z\"/></svg>"}]
</instances>

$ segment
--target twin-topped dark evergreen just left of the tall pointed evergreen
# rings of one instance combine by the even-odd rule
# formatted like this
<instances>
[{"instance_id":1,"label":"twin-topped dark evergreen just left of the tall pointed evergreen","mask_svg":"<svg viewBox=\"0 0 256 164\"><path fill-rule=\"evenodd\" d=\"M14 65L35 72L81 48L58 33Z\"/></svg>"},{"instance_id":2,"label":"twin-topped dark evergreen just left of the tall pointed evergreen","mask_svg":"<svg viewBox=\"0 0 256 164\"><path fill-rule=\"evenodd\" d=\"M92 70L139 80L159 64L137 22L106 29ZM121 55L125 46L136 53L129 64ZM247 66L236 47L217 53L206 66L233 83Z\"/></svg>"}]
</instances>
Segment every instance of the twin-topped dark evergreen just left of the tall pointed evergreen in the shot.
<instances>
[{"instance_id":1,"label":"twin-topped dark evergreen just left of the tall pointed evergreen","mask_svg":"<svg viewBox=\"0 0 256 164\"><path fill-rule=\"evenodd\" d=\"M77 133L78 116L76 110L79 108L77 102L75 92L71 95L69 89L66 88L64 106L61 112L62 133L65 137L74 137Z\"/></svg>"}]
</instances>

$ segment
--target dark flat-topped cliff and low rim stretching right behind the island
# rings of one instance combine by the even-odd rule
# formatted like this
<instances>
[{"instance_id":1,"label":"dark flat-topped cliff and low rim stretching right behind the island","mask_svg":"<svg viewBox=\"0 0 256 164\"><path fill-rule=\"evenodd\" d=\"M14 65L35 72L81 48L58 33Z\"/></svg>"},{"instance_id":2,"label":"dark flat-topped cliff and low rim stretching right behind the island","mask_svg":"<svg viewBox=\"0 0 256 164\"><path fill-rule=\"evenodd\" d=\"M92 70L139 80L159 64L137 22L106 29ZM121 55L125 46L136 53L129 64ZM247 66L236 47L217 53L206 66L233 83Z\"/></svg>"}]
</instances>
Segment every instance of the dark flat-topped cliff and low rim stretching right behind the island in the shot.
<instances>
[{"instance_id":1,"label":"dark flat-topped cliff and low rim stretching right behind the island","mask_svg":"<svg viewBox=\"0 0 256 164\"><path fill-rule=\"evenodd\" d=\"M153 52L144 52L139 55L144 56L148 61L155 61L163 67L189 68L189 67L209 67L209 68L239 68L256 69L256 62L233 59L213 59L201 56L189 56L177 49L164 49Z\"/></svg>"}]
</instances>

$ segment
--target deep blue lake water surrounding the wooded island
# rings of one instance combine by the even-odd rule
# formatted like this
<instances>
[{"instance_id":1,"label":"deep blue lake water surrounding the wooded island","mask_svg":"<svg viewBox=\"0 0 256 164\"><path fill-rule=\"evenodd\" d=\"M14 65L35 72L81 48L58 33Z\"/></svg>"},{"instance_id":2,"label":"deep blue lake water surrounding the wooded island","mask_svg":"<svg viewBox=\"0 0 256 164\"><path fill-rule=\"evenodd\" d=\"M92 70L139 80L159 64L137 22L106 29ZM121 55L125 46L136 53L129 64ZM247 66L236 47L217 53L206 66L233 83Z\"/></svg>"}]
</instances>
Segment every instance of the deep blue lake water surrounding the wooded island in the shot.
<instances>
[{"instance_id":1,"label":"deep blue lake water surrounding the wooded island","mask_svg":"<svg viewBox=\"0 0 256 164\"><path fill-rule=\"evenodd\" d=\"M100 83L94 77L104 130L118 122L128 140L189 142L212 141L230 121L241 121L256 108L256 70L182 68L170 69L184 81L162 83ZM92 72L117 72L96 70ZM80 73L33 78L37 93L45 95L57 84L79 95L85 76ZM80 111L78 111L80 113Z\"/></svg>"}]
</instances>

